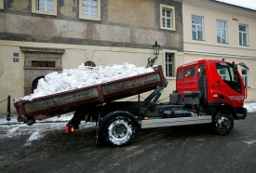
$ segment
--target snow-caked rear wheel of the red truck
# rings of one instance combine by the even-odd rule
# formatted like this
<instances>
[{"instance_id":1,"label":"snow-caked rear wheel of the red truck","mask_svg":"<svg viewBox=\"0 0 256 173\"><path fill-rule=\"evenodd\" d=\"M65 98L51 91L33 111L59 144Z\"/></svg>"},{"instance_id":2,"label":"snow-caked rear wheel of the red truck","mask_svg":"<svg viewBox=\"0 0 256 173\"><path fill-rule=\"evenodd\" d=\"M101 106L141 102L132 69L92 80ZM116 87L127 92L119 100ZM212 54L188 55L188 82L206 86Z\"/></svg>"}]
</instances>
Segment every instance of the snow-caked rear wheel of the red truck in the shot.
<instances>
[{"instance_id":1,"label":"snow-caked rear wheel of the red truck","mask_svg":"<svg viewBox=\"0 0 256 173\"><path fill-rule=\"evenodd\" d=\"M128 144L134 137L134 123L126 116L116 116L104 126L104 138L113 146Z\"/></svg>"}]
</instances>

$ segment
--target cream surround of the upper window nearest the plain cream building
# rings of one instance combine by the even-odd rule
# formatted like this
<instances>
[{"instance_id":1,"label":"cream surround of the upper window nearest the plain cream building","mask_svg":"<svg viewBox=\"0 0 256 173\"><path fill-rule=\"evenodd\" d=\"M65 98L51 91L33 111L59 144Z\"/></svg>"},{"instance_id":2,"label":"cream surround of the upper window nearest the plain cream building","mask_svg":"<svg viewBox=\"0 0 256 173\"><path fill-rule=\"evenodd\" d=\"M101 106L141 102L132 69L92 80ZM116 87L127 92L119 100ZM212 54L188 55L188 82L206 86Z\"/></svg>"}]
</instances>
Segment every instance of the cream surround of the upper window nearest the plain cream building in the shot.
<instances>
[{"instance_id":1,"label":"cream surround of the upper window nearest the plain cream building","mask_svg":"<svg viewBox=\"0 0 256 173\"><path fill-rule=\"evenodd\" d=\"M163 10L170 11L170 27L163 26ZM160 4L160 29L176 31L175 26L175 7Z\"/></svg>"}]
</instances>

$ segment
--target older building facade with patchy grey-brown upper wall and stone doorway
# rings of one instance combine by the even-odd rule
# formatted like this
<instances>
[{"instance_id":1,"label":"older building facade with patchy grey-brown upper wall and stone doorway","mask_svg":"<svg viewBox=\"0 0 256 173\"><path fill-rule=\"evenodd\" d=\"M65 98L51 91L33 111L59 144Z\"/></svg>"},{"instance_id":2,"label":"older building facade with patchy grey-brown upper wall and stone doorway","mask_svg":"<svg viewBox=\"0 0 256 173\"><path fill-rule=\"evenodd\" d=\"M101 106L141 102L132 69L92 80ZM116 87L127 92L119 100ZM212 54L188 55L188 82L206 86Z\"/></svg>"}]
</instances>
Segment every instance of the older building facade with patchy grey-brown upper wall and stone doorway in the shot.
<instances>
[{"instance_id":1,"label":"older building facade with patchy grey-brown upper wall and stone doorway","mask_svg":"<svg viewBox=\"0 0 256 173\"><path fill-rule=\"evenodd\" d=\"M184 62L182 2L0 0L0 101L29 95L47 73L81 63L145 66L155 41L161 46L155 64L169 82L160 100L168 101ZM7 113L7 101L0 113Z\"/></svg>"}]
</instances>

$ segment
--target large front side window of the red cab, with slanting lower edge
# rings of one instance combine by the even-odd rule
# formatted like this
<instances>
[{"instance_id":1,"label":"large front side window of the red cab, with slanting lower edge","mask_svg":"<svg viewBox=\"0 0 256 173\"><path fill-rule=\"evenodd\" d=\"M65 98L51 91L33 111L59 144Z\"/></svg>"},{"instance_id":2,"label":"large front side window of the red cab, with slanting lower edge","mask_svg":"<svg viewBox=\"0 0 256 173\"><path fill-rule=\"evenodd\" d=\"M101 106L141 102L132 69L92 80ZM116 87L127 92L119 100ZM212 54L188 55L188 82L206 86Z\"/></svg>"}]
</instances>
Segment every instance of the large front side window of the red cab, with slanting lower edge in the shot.
<instances>
[{"instance_id":1,"label":"large front side window of the red cab, with slanting lower edge","mask_svg":"<svg viewBox=\"0 0 256 173\"><path fill-rule=\"evenodd\" d=\"M216 63L216 69L226 85L233 88L238 93L242 92L240 80L237 77L237 73L234 73L232 64L224 62Z\"/></svg>"}]
</instances>

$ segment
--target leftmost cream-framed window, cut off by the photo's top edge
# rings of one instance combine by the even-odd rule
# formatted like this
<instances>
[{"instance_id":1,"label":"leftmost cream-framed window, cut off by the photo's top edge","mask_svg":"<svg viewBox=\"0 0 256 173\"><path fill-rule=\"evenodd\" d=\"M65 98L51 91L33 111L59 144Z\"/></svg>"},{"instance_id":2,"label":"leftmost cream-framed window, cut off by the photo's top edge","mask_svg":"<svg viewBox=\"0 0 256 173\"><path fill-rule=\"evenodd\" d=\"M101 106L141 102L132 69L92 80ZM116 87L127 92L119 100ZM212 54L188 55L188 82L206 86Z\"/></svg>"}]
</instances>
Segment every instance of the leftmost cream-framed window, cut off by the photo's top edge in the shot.
<instances>
[{"instance_id":1,"label":"leftmost cream-framed window, cut off by the photo's top edge","mask_svg":"<svg viewBox=\"0 0 256 173\"><path fill-rule=\"evenodd\" d=\"M57 16L57 0L32 0L32 12Z\"/></svg>"}]
</instances>

